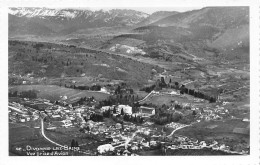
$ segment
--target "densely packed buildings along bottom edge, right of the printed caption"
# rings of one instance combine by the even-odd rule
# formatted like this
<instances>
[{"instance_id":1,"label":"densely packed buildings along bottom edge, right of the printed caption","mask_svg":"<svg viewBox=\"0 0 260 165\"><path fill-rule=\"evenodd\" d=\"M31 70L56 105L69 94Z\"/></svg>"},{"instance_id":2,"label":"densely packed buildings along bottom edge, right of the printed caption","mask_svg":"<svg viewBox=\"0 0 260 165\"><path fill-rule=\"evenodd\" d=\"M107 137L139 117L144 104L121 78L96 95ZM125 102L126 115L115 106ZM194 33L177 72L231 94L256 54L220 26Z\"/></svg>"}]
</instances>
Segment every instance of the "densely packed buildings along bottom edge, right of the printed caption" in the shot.
<instances>
[{"instance_id":1,"label":"densely packed buildings along bottom edge, right of the printed caption","mask_svg":"<svg viewBox=\"0 0 260 165\"><path fill-rule=\"evenodd\" d=\"M143 128L146 129L146 128ZM217 141L212 141L206 143L205 141L198 141L192 138L188 138L185 136L165 136L164 133L153 134L154 130L148 129L144 132L141 131L142 129L137 129L137 131L125 134L124 135L115 135L112 136L113 142L100 145L97 148L99 154L107 154L108 152L115 152L116 155L138 155L139 151L144 150L154 150L159 145L160 148L163 149L165 153L168 150L179 150L179 149L189 149L189 150L200 150L200 149L211 149L217 151L223 151L230 154L248 154L249 148L243 149L241 151L232 151L229 146L225 144L219 144ZM139 132L140 131L140 132ZM138 133L149 135L151 138L147 140L142 136L139 136ZM119 138L120 137L120 138ZM117 139L117 140L114 140ZM162 147L163 146L163 147Z\"/></svg>"}]
</instances>

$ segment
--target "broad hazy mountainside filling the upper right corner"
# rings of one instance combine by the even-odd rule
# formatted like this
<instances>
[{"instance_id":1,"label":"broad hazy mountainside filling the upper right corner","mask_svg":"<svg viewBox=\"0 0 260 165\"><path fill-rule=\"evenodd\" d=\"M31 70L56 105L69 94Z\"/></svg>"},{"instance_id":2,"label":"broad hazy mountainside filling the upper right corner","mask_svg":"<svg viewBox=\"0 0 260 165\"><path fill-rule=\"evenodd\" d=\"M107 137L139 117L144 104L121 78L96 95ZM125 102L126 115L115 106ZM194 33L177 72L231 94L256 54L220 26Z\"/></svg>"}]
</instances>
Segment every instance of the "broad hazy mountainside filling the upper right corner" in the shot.
<instances>
[{"instance_id":1,"label":"broad hazy mountainside filling the upper right corner","mask_svg":"<svg viewBox=\"0 0 260 165\"><path fill-rule=\"evenodd\" d=\"M248 45L249 8L207 7L177 13L133 31L142 33L142 38L148 38L147 41L151 41L151 36L154 36L155 39L172 39L175 42L205 40L217 48L241 41Z\"/></svg>"}]
</instances>

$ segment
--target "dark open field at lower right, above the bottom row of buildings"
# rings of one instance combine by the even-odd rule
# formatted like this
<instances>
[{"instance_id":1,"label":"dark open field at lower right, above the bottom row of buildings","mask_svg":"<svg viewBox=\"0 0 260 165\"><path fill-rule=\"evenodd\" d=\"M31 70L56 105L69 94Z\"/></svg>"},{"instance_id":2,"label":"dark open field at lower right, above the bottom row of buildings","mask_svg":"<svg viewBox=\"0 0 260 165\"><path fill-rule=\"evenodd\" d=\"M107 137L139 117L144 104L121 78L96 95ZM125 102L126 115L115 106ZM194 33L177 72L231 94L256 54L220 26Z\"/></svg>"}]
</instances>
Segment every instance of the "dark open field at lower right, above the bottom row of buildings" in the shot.
<instances>
[{"instance_id":1,"label":"dark open field at lower right, above the bottom row of buildings","mask_svg":"<svg viewBox=\"0 0 260 165\"><path fill-rule=\"evenodd\" d=\"M216 140L220 144L226 144L232 148L249 145L249 130L246 133L233 132L235 128L249 129L249 122L241 119L209 121L193 124L175 132L176 135L183 135L199 141Z\"/></svg>"}]
</instances>

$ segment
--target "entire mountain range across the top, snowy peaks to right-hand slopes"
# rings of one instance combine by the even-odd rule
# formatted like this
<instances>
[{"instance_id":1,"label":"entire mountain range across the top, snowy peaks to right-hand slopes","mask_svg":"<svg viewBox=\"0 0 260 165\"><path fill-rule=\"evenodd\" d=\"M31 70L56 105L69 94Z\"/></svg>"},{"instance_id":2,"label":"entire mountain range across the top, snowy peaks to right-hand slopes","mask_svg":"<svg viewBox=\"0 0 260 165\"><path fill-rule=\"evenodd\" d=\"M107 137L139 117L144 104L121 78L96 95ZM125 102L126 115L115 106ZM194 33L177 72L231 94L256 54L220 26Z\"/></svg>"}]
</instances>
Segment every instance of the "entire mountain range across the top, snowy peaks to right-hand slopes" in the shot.
<instances>
[{"instance_id":1,"label":"entire mountain range across the top, snowy peaks to right-hand slopes","mask_svg":"<svg viewBox=\"0 0 260 165\"><path fill-rule=\"evenodd\" d=\"M77 45L95 44L87 37L96 35L100 39L95 47L109 49L120 44L119 41L126 45L131 41L128 46L138 46L143 41L148 45L163 41L179 44L196 55L218 49L247 57L249 8L205 7L152 14L128 9L9 8L9 36L23 35L60 36L60 41L71 41L72 44L76 41ZM105 35L114 38L102 39Z\"/></svg>"}]
</instances>

